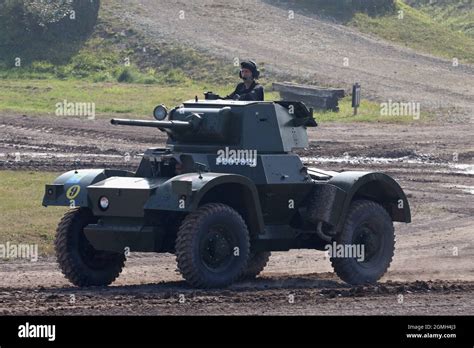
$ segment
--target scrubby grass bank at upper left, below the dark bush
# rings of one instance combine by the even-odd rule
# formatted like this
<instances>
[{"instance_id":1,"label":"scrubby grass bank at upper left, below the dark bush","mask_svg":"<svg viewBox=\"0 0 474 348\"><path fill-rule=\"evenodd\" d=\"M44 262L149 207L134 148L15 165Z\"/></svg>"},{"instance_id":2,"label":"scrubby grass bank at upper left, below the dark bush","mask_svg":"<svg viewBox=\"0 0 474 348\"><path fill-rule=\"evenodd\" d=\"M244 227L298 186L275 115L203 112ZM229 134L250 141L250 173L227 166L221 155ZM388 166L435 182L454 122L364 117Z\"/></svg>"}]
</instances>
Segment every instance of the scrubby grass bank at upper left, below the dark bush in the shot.
<instances>
[{"instance_id":1,"label":"scrubby grass bank at upper left, below the dark bush","mask_svg":"<svg viewBox=\"0 0 474 348\"><path fill-rule=\"evenodd\" d=\"M132 26L118 23L114 13L121 11L114 2L102 1L94 29L71 40L69 34L56 40L57 23L44 33L23 35L19 43L4 42L6 35L0 35L0 44L2 38L6 44L0 53L0 77L161 85L230 81L233 71L214 57L177 43L151 42ZM15 65L17 57L20 66Z\"/></svg>"}]
</instances>

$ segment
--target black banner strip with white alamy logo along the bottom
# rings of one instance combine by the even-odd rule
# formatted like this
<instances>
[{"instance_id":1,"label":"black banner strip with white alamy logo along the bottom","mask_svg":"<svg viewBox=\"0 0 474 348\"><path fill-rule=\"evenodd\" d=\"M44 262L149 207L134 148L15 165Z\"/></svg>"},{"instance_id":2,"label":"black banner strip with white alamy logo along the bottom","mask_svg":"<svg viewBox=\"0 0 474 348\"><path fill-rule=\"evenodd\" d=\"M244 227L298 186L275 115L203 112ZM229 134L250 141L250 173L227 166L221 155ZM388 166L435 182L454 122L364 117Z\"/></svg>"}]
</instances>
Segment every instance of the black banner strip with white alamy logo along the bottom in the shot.
<instances>
[{"instance_id":1,"label":"black banner strip with white alamy logo along the bottom","mask_svg":"<svg viewBox=\"0 0 474 348\"><path fill-rule=\"evenodd\" d=\"M0 346L49 344L413 344L473 347L473 317L0 317ZM43 338L19 337L47 333ZM49 331L51 332L51 330ZM20 334L21 335L21 334ZM439 337L441 335L441 337ZM44 334L47 336L47 334ZM212 337L219 337L213 340ZM225 342L222 342L225 340Z\"/></svg>"}]
</instances>

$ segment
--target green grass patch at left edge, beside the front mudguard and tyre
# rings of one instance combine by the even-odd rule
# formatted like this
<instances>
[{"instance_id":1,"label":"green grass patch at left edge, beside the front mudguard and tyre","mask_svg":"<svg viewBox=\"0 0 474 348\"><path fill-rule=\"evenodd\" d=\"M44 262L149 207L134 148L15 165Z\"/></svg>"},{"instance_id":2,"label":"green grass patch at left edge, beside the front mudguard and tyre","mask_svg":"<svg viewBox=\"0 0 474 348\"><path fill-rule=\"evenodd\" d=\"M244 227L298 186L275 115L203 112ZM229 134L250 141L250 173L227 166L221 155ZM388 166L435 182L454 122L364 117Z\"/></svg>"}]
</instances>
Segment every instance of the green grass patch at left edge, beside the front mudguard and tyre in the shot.
<instances>
[{"instance_id":1,"label":"green grass patch at left edge, beside the front mudguard and tyre","mask_svg":"<svg viewBox=\"0 0 474 348\"><path fill-rule=\"evenodd\" d=\"M37 244L40 255L53 252L57 223L67 208L44 208L44 185L57 176L44 172L0 171L0 244Z\"/></svg>"}]
</instances>

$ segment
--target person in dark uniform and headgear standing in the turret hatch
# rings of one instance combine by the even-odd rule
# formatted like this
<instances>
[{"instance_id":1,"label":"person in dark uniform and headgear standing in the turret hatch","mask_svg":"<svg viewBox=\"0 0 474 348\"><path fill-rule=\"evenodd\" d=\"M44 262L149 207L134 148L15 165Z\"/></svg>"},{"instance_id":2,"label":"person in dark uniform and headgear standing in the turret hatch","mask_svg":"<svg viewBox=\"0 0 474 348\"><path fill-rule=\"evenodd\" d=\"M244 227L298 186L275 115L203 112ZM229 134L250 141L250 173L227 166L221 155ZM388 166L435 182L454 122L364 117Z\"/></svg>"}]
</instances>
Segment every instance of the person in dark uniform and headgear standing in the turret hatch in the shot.
<instances>
[{"instance_id":1,"label":"person in dark uniform and headgear standing in the turret hatch","mask_svg":"<svg viewBox=\"0 0 474 348\"><path fill-rule=\"evenodd\" d=\"M234 92L222 99L263 101L263 86L255 80L260 76L257 64L251 60L240 63L239 77L244 80L237 85Z\"/></svg>"}]
</instances>

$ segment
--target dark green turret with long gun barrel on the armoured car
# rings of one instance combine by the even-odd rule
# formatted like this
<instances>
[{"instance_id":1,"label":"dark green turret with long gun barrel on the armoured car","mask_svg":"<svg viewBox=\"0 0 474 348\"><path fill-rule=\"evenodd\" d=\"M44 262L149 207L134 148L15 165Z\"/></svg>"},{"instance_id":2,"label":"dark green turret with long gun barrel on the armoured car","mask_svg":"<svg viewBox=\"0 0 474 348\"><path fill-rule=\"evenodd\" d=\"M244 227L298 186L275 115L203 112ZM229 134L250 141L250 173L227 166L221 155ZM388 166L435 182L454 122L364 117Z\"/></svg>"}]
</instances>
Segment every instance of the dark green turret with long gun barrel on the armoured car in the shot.
<instances>
[{"instance_id":1,"label":"dark green turret with long gun barrel on the armoured car","mask_svg":"<svg viewBox=\"0 0 474 348\"><path fill-rule=\"evenodd\" d=\"M158 106L154 115L158 121L111 122L159 128L169 136L167 146L181 152L215 152L229 147L288 153L307 147L306 127L317 126L312 110L300 102L191 100L169 114Z\"/></svg>"}]
</instances>

